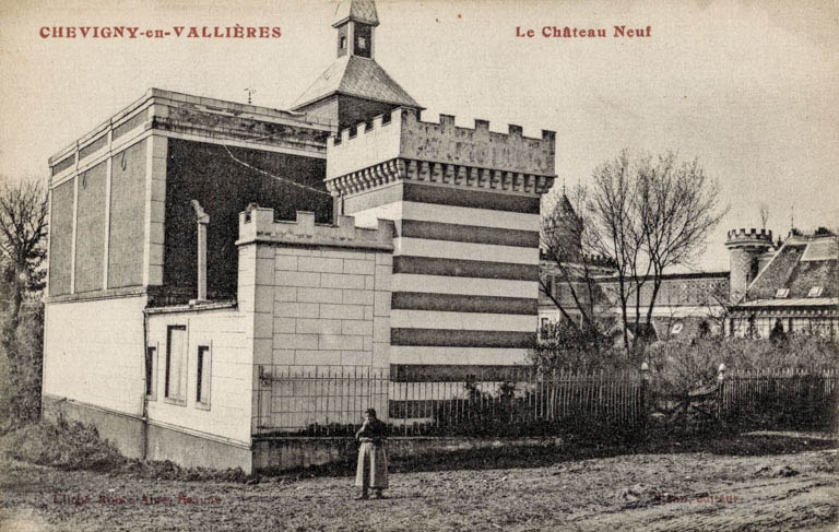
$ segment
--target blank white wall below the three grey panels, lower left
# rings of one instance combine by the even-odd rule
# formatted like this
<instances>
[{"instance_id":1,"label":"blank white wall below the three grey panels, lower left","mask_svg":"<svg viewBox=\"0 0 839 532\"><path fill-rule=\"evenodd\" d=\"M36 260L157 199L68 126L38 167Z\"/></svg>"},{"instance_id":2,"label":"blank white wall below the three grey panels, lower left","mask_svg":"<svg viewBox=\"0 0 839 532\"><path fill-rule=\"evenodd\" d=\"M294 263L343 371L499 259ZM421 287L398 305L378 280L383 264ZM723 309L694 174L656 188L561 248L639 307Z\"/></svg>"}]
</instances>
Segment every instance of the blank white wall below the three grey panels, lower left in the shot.
<instances>
[{"instance_id":1,"label":"blank white wall below the three grey panels, lower left","mask_svg":"<svg viewBox=\"0 0 839 532\"><path fill-rule=\"evenodd\" d=\"M144 296L47 304L44 394L142 415L144 307Z\"/></svg>"}]
</instances>

